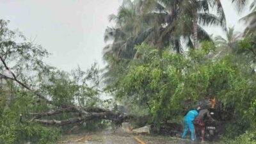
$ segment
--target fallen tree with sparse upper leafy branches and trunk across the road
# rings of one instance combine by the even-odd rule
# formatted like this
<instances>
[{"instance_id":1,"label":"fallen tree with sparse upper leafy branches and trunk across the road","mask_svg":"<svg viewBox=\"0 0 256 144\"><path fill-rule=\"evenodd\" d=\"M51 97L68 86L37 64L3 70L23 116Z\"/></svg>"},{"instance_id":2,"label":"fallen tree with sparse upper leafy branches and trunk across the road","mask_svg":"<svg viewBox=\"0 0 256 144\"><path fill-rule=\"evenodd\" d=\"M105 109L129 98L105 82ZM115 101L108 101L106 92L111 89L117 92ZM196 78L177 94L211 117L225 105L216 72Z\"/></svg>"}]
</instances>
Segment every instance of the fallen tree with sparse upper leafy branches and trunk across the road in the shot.
<instances>
[{"instance_id":1,"label":"fallen tree with sparse upper leafy branches and trunk across the road","mask_svg":"<svg viewBox=\"0 0 256 144\"><path fill-rule=\"evenodd\" d=\"M6 103L4 106L10 107L14 100L22 98L15 97L15 93L26 95L28 101L25 100L24 103L28 102L32 107L38 104L45 106L40 111L20 110L20 121L25 115L28 122L59 127L96 119L120 124L129 118L125 113L96 106L95 99L100 102L97 98L100 89L99 70L95 64L87 72L77 68L72 73L67 73L50 67L42 61L49 53L40 45L27 42L24 36L8 29L7 24L8 22L0 20L0 90L13 95L2 100ZM9 90L6 86L6 90L2 91L2 85L8 81L13 82L15 90ZM58 115L67 113L74 115L58 119Z\"/></svg>"}]
</instances>

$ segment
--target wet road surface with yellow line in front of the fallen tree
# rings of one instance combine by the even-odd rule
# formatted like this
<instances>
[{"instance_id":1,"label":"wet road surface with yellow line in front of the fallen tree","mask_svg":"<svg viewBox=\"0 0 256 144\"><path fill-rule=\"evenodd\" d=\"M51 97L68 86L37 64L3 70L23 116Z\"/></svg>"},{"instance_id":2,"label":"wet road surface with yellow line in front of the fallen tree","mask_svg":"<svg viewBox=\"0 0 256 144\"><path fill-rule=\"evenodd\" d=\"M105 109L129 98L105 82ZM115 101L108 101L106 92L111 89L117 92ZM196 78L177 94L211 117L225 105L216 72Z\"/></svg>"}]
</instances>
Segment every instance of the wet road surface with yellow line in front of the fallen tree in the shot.
<instances>
[{"instance_id":1,"label":"wet road surface with yellow line in front of the fallen tree","mask_svg":"<svg viewBox=\"0 0 256 144\"><path fill-rule=\"evenodd\" d=\"M127 132L97 132L94 134L77 134L63 136L60 144L196 144L190 141L170 136L134 135ZM205 142L204 144L209 144ZM211 143L213 144L213 143Z\"/></svg>"}]
</instances>

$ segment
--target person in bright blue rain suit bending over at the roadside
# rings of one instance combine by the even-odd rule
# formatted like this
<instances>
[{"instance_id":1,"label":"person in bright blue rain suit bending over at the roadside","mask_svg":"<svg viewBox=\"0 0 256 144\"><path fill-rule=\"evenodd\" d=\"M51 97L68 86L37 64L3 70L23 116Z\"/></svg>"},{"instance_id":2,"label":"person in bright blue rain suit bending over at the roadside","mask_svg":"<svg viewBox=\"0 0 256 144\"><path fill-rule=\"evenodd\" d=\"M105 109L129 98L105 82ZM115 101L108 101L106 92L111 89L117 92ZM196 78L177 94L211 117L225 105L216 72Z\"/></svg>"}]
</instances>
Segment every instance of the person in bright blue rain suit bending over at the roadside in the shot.
<instances>
[{"instance_id":1,"label":"person in bright blue rain suit bending over at the roadside","mask_svg":"<svg viewBox=\"0 0 256 144\"><path fill-rule=\"evenodd\" d=\"M188 111L188 113L184 117L184 132L182 134L182 138L185 138L188 130L191 133L191 140L195 141L195 136L194 136L194 124L193 120L195 120L195 117L198 115L198 111L200 111L200 107L197 109L193 109L191 111Z\"/></svg>"}]
</instances>

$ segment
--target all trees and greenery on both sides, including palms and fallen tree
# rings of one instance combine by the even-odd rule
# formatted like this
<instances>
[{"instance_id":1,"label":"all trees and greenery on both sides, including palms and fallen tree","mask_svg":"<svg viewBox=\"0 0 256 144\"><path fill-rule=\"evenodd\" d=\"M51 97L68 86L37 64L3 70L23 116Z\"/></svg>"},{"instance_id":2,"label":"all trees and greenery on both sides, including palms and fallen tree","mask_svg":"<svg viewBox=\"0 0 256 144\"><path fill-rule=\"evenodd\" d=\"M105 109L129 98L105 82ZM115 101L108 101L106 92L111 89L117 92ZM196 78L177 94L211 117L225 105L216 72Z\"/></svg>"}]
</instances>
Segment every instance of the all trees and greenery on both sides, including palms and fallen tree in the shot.
<instances>
[{"instance_id":1,"label":"all trees and greenery on both sides, including palms and fallen tree","mask_svg":"<svg viewBox=\"0 0 256 144\"><path fill-rule=\"evenodd\" d=\"M245 2L232 0L237 12ZM181 123L186 111L212 98L221 141L256 143L255 4L239 33L226 28L219 0L124 0L109 16L116 26L104 36L107 66L70 73L46 65L45 49L0 20L0 143L57 143L72 125ZM226 35L214 38L205 26ZM100 99L106 93L113 99Z\"/></svg>"}]
</instances>

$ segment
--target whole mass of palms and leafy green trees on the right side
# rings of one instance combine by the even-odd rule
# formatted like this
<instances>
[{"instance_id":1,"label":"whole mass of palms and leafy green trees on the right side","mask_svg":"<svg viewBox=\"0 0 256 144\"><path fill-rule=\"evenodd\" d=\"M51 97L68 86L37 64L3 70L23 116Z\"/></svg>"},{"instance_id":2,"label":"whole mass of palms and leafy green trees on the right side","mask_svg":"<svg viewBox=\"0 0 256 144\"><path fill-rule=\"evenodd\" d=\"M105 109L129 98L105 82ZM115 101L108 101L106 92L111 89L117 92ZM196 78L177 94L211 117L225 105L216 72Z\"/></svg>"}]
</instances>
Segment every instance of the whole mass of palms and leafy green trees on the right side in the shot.
<instances>
[{"instance_id":1,"label":"whole mass of palms and leafy green trees on the right side","mask_svg":"<svg viewBox=\"0 0 256 144\"><path fill-rule=\"evenodd\" d=\"M248 1L231 2L241 12ZM124 1L105 33L106 90L156 125L215 97L226 142L255 143L255 1L250 8L243 37L226 28L221 1ZM225 37L212 38L209 25Z\"/></svg>"}]
</instances>

